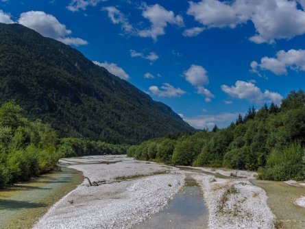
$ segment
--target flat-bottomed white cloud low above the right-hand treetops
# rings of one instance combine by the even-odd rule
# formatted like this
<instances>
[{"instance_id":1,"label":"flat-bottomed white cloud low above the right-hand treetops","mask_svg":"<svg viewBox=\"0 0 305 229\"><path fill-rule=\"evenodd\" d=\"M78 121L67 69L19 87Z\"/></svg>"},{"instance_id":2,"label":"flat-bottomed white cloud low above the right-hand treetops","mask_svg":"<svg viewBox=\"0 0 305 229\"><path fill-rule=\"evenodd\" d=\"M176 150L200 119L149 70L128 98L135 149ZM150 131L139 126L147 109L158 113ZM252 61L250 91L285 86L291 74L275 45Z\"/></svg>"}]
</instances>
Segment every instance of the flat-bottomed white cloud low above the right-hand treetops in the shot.
<instances>
[{"instance_id":1,"label":"flat-bottomed white cloud low above the right-hand treetops","mask_svg":"<svg viewBox=\"0 0 305 229\"><path fill-rule=\"evenodd\" d=\"M255 104L271 101L273 101L275 104L280 104L280 101L282 101L283 98L279 93L268 90L262 92L254 83L241 80L236 81L235 86L227 86L223 84L221 86L221 90L231 97L246 99L247 101Z\"/></svg>"}]
</instances>

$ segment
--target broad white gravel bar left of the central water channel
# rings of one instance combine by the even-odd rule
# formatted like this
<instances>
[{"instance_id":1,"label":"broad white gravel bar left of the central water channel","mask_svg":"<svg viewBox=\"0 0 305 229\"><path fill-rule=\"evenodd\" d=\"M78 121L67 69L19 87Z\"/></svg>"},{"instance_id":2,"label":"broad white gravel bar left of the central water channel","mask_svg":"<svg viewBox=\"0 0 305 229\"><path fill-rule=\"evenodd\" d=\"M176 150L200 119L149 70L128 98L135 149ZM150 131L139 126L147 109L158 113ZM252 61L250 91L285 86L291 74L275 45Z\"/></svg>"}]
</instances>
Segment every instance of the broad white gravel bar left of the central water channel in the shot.
<instances>
[{"instance_id":1,"label":"broad white gravel bar left of the central water channel","mask_svg":"<svg viewBox=\"0 0 305 229\"><path fill-rule=\"evenodd\" d=\"M178 169L130 158L116 164L71 167L83 171L91 182L106 179L112 183L88 186L84 181L54 204L34 228L130 228L164 208L184 184L184 174ZM167 173L143 176L162 171ZM128 180L113 182L118 176L127 176Z\"/></svg>"}]
</instances>

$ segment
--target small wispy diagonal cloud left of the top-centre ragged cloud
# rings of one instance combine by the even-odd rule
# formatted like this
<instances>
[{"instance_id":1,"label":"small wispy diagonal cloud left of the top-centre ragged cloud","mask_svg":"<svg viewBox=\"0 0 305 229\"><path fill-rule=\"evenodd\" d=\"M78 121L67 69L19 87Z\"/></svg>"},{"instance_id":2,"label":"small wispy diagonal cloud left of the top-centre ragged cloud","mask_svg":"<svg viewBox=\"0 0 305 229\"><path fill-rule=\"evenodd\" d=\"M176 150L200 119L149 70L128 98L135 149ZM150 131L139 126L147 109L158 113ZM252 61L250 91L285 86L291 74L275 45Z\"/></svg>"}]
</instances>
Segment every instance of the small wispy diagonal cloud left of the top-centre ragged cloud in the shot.
<instances>
[{"instance_id":1,"label":"small wispy diagonal cloud left of the top-centre ragged cloud","mask_svg":"<svg viewBox=\"0 0 305 229\"><path fill-rule=\"evenodd\" d=\"M133 32L133 27L130 25L129 21L125 18L125 15L122 14L117 8L114 6L104 7L103 10L108 12L108 17L114 24L121 25L122 29L127 33Z\"/></svg>"}]
</instances>

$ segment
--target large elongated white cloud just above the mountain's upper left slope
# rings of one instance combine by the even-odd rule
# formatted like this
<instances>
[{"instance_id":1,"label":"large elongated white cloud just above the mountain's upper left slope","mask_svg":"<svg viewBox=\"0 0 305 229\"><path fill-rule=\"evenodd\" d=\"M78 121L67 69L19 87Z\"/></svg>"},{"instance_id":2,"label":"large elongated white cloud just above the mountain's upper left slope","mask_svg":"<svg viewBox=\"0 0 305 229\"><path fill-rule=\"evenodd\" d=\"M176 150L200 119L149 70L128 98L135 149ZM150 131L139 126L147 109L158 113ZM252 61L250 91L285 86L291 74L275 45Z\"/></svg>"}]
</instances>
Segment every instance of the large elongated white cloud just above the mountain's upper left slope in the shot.
<instances>
[{"instance_id":1,"label":"large elongated white cloud just above the mountain's upper left slope","mask_svg":"<svg viewBox=\"0 0 305 229\"><path fill-rule=\"evenodd\" d=\"M66 25L63 25L51 14L46 14L42 11L29 11L24 12L19 17L19 24L25 25L42 36L47 36L56 40L60 40L67 45L87 45L86 40L82 38L67 37L72 34L71 30L66 29Z\"/></svg>"}]
</instances>

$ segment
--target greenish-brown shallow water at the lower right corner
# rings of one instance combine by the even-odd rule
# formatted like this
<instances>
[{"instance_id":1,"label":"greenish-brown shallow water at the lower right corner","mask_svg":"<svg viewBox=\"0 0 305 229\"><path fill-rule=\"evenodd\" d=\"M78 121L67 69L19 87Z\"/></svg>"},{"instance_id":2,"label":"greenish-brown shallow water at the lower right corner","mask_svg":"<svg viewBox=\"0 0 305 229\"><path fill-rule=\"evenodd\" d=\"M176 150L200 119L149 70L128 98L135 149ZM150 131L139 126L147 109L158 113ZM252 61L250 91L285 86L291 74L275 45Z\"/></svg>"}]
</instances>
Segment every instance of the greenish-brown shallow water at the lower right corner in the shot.
<instances>
[{"instance_id":1,"label":"greenish-brown shallow water at the lower right corner","mask_svg":"<svg viewBox=\"0 0 305 229\"><path fill-rule=\"evenodd\" d=\"M278 219L278 228L305 228L305 208L293 204L297 198L305 195L304 187L267 180L251 180L251 182L266 191L267 203Z\"/></svg>"}]
</instances>

